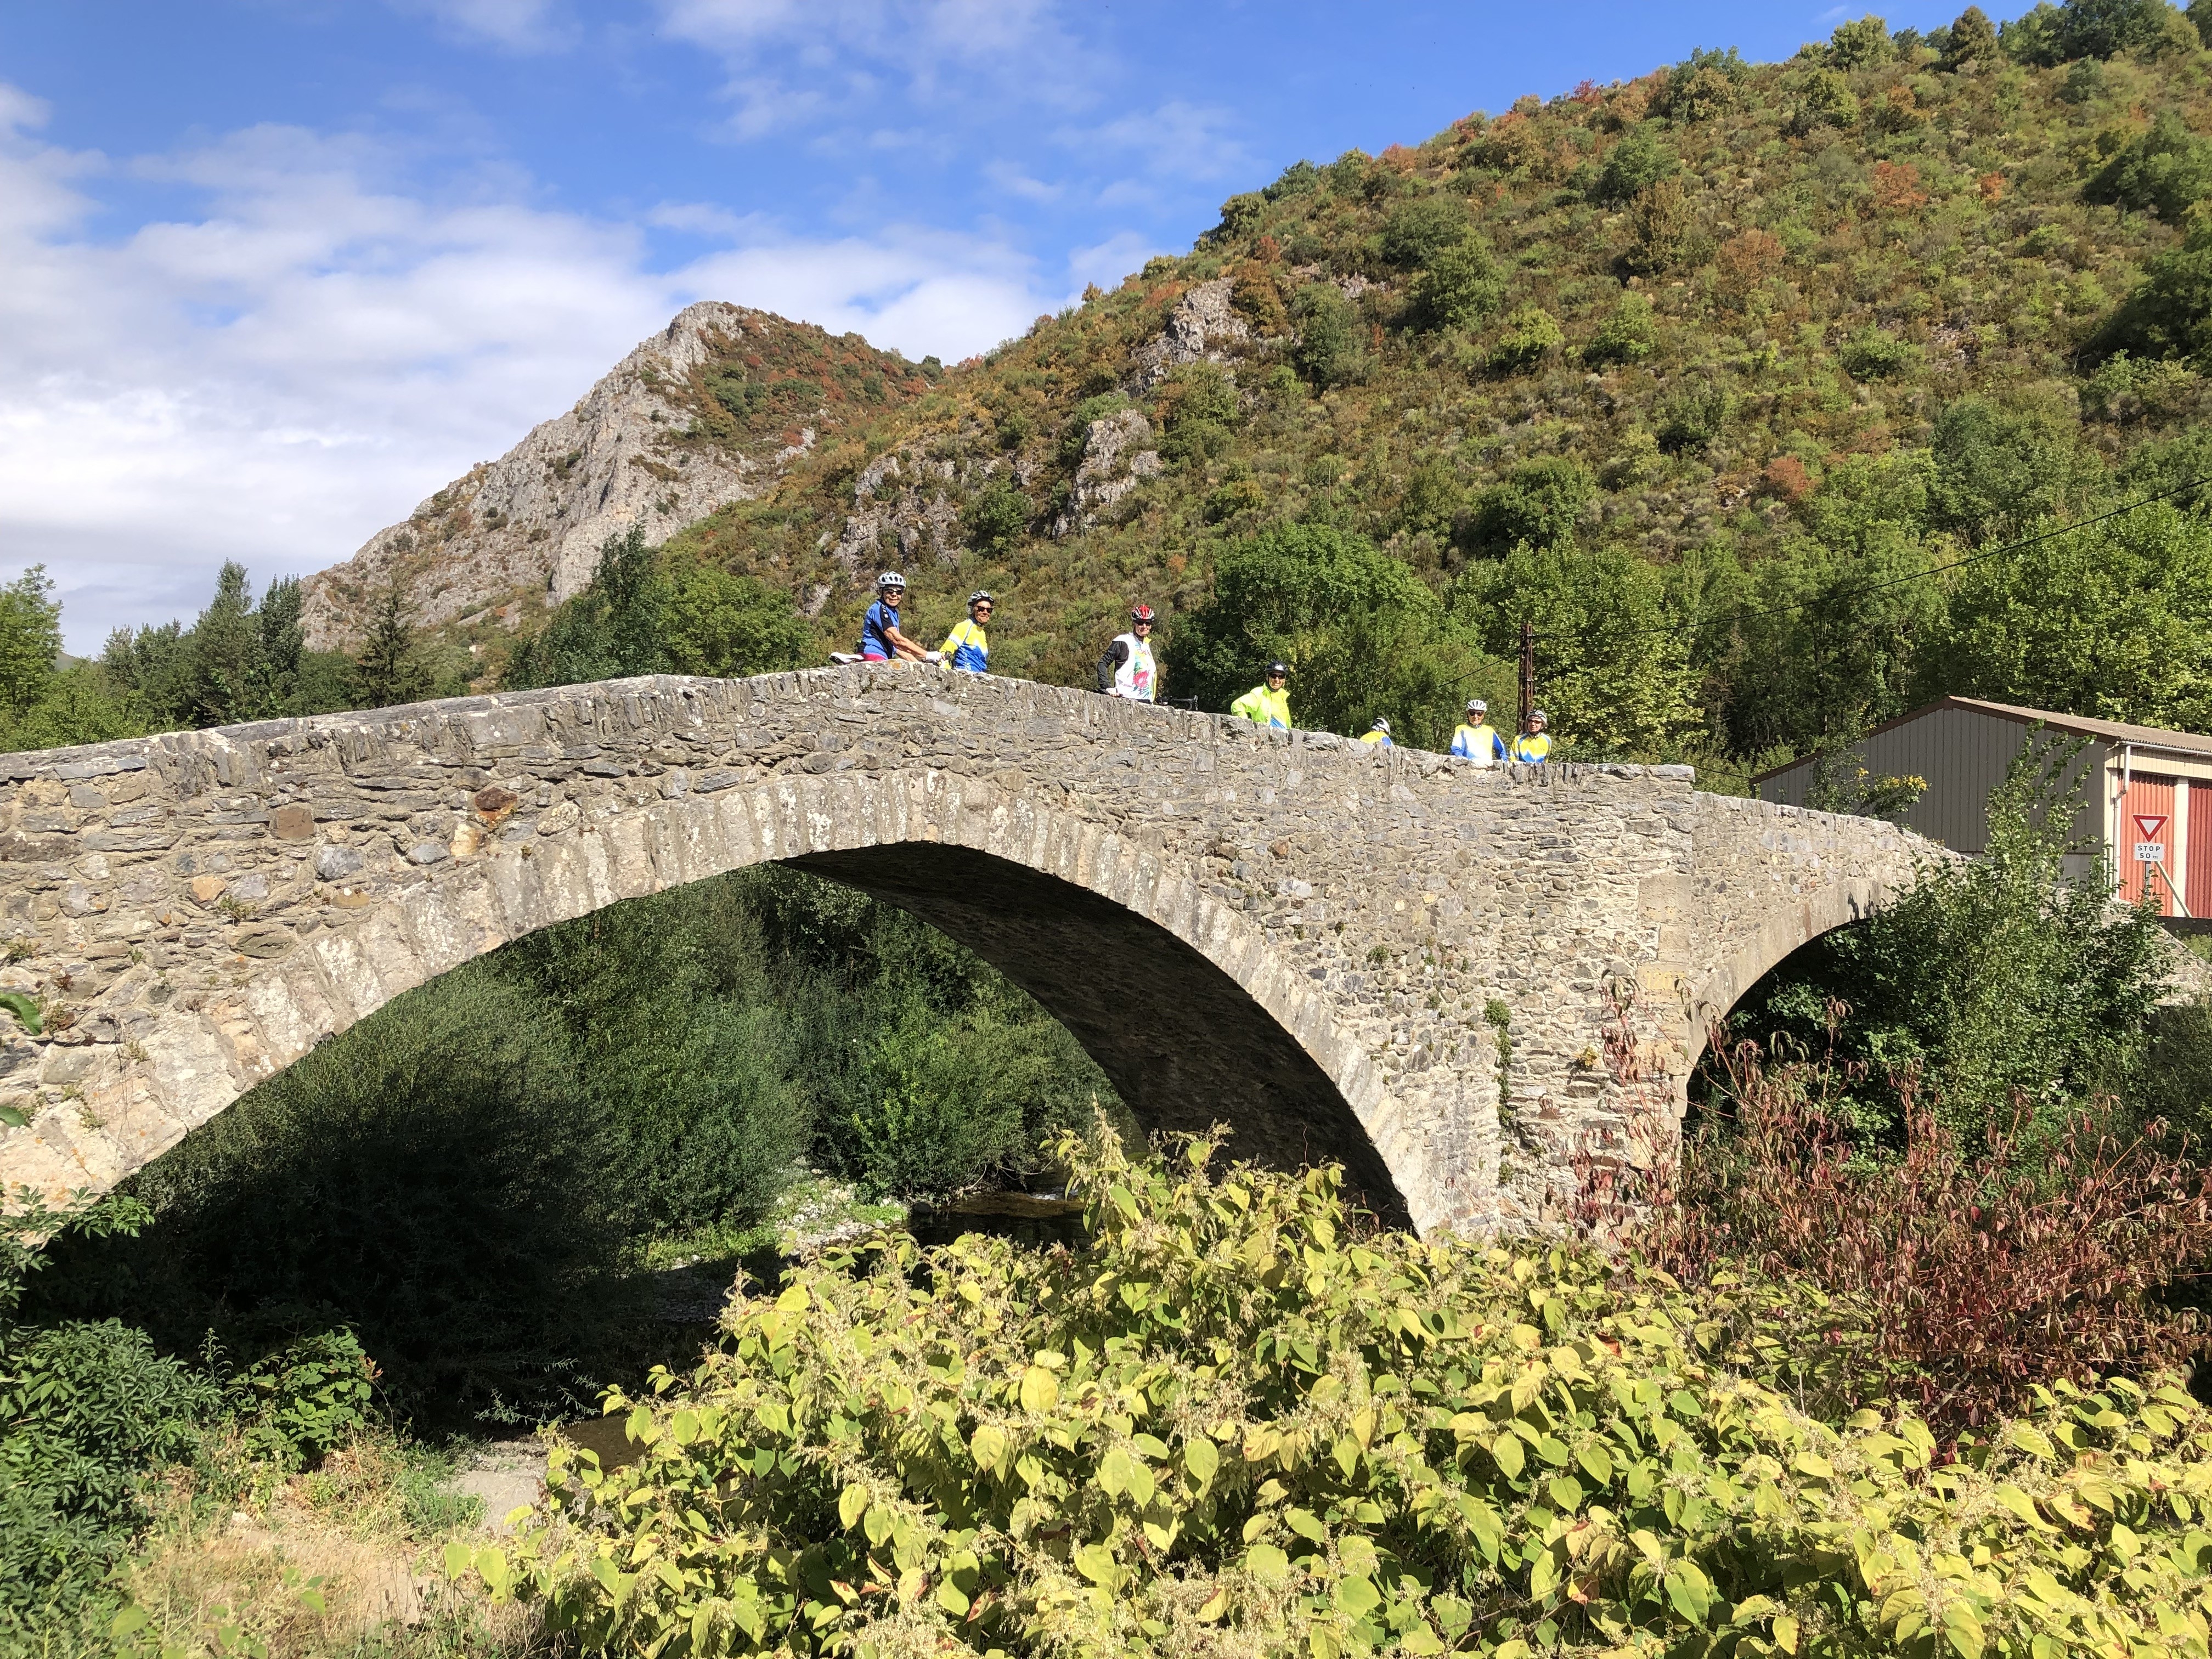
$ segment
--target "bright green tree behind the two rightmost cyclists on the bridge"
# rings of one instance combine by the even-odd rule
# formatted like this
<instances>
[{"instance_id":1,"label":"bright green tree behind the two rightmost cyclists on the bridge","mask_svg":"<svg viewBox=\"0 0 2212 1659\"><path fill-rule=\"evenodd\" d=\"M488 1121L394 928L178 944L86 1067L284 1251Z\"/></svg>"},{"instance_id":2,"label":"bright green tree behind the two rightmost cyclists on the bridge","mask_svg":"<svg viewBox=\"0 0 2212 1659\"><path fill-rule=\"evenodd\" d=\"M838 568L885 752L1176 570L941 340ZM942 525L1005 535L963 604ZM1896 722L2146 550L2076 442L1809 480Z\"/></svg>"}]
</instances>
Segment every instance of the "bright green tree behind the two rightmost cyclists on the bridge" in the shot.
<instances>
[{"instance_id":1,"label":"bright green tree behind the two rightmost cyclists on the bridge","mask_svg":"<svg viewBox=\"0 0 2212 1659\"><path fill-rule=\"evenodd\" d=\"M1451 615L1498 657L1535 626L1537 701L1553 734L1597 754L1655 754L1699 723L1694 672L1659 573L1621 549L1517 546L1473 564Z\"/></svg>"}]
</instances>

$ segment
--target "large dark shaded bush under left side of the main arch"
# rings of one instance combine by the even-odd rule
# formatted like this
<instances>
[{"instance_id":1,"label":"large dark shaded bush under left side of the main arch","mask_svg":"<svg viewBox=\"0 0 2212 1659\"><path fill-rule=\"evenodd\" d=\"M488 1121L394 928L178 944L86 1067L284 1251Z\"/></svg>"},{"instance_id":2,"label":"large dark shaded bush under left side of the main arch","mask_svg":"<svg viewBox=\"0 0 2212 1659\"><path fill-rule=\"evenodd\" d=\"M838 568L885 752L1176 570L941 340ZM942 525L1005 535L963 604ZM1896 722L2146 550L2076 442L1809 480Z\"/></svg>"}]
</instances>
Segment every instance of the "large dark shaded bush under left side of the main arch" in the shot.
<instances>
[{"instance_id":1,"label":"large dark shaded bush under left side of the main arch","mask_svg":"<svg viewBox=\"0 0 2212 1659\"><path fill-rule=\"evenodd\" d=\"M555 1013L489 962L394 998L148 1164L153 1223L60 1252L40 1305L208 1329L252 1371L347 1323L407 1411L560 1409L622 1314L622 1141Z\"/></svg>"}]
</instances>

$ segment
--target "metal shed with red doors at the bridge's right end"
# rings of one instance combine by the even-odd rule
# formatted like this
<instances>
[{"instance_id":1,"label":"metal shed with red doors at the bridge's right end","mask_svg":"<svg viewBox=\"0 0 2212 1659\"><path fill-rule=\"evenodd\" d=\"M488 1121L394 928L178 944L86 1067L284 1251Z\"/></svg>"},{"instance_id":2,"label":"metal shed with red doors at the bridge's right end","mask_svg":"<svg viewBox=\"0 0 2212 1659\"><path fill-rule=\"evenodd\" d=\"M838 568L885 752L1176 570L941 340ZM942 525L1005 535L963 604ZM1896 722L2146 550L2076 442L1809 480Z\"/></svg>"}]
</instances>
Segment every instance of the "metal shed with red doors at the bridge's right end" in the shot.
<instances>
[{"instance_id":1,"label":"metal shed with red doors at the bridge's right end","mask_svg":"<svg viewBox=\"0 0 2212 1659\"><path fill-rule=\"evenodd\" d=\"M2073 836L2088 849L2066 858L2075 880L2097 876L2135 900L2146 883L2159 911L2212 916L2212 737L2157 726L2059 714L2048 708L1942 701L1876 726L1856 743L1807 754L1752 779L1761 801L1818 805L1825 781L1920 776L1927 792L1905 827L1960 852L1989 845L1989 792L2037 734L2081 739L2068 781L2088 772Z\"/></svg>"}]
</instances>

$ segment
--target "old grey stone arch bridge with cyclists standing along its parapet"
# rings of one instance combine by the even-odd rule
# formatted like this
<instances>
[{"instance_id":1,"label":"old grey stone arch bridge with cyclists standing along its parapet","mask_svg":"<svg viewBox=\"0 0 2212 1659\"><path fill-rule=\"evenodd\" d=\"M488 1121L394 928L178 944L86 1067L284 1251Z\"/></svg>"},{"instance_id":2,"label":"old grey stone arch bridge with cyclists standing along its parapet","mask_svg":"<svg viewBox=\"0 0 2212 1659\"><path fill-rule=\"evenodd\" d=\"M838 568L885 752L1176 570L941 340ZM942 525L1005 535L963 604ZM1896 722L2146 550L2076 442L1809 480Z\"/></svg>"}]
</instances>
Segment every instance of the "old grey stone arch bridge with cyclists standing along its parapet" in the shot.
<instances>
[{"instance_id":1,"label":"old grey stone arch bridge with cyclists standing along its parapet","mask_svg":"<svg viewBox=\"0 0 2212 1659\"><path fill-rule=\"evenodd\" d=\"M1475 770L1006 679L628 679L0 757L0 1183L106 1190L389 998L785 860L1026 987L1157 1128L1557 1221L1708 1020L1933 854L1688 768ZM1502 1020L1502 1026L1493 1024ZM1506 1042L1500 1044L1500 1031ZM1639 1128L1641 1126L1641 1128Z\"/></svg>"}]
</instances>

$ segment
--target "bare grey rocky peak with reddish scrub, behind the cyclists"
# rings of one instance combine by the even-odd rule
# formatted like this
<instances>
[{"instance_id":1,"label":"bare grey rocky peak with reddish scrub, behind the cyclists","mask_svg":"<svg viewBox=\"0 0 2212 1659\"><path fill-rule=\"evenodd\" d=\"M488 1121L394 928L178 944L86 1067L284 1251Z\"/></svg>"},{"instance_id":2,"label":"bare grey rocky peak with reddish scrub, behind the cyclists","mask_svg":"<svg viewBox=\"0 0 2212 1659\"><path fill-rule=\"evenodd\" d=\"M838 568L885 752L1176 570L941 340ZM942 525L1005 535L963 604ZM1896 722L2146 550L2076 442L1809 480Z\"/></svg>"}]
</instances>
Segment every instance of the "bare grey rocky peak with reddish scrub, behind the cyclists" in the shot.
<instances>
[{"instance_id":1,"label":"bare grey rocky peak with reddish scrub, behind the cyclists","mask_svg":"<svg viewBox=\"0 0 2212 1659\"><path fill-rule=\"evenodd\" d=\"M473 467L354 557L310 577L316 650L356 644L403 584L420 626L515 626L582 588L608 535L666 538L772 489L825 434L927 389L922 369L812 323L703 301L617 363L564 416Z\"/></svg>"}]
</instances>

